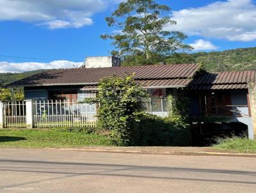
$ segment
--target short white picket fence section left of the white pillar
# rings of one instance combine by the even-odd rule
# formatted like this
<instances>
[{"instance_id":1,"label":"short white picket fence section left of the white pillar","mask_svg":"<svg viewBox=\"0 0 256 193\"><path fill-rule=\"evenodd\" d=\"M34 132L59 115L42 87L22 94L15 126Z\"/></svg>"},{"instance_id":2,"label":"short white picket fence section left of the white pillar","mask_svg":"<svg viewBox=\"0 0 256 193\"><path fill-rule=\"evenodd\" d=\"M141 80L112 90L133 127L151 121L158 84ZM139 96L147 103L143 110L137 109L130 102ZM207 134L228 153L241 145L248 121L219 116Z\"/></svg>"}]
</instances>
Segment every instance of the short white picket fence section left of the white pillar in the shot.
<instances>
[{"instance_id":1,"label":"short white picket fence section left of the white pillar","mask_svg":"<svg viewBox=\"0 0 256 193\"><path fill-rule=\"evenodd\" d=\"M4 127L27 127L26 103L24 101L4 104Z\"/></svg>"}]
</instances>

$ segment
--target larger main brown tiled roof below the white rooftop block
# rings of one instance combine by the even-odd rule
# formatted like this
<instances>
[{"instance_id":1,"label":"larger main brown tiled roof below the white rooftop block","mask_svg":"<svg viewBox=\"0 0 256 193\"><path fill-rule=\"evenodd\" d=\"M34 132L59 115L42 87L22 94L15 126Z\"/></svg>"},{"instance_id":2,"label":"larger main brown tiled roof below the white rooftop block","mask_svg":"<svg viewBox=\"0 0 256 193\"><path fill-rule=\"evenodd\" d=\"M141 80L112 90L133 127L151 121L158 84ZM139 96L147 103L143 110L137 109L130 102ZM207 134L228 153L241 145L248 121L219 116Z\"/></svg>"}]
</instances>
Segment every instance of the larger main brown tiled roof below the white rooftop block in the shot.
<instances>
[{"instance_id":1,"label":"larger main brown tiled roof below the white rooftop block","mask_svg":"<svg viewBox=\"0 0 256 193\"><path fill-rule=\"evenodd\" d=\"M7 86L95 85L100 79L135 73L136 81L149 86L187 86L198 70L198 65L116 66L109 68L70 68L49 70Z\"/></svg>"}]
</instances>

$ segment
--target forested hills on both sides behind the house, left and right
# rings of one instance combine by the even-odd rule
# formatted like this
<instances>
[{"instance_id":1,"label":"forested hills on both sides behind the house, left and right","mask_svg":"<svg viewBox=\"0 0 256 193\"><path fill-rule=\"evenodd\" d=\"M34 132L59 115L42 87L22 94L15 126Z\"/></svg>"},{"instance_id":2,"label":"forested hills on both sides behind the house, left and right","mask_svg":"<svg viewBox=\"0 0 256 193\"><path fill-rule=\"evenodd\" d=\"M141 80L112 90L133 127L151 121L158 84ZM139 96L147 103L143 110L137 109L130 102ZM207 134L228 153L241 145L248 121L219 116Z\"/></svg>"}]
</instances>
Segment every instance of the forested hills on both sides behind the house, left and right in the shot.
<instances>
[{"instance_id":1,"label":"forested hills on both sides behind the house, left and right","mask_svg":"<svg viewBox=\"0 0 256 193\"><path fill-rule=\"evenodd\" d=\"M204 63L206 70L211 72L256 70L256 47L222 52L197 52L189 56L186 54L184 57L188 58L183 60L185 63ZM0 82L1 84L8 84L44 71L46 70L0 73Z\"/></svg>"}]
</instances>

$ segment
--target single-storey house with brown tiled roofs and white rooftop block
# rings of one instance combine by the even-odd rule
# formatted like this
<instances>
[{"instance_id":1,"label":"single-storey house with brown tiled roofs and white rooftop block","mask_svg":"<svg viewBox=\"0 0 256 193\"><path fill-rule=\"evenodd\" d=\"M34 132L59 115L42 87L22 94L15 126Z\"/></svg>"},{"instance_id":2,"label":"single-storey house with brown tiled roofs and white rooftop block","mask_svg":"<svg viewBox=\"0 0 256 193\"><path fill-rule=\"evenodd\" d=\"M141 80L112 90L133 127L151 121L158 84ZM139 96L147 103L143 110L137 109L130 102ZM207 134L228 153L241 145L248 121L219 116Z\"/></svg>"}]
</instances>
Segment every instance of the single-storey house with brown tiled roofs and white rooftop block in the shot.
<instances>
[{"instance_id":1,"label":"single-storey house with brown tiled roofs and white rooftop block","mask_svg":"<svg viewBox=\"0 0 256 193\"><path fill-rule=\"evenodd\" d=\"M195 64L119 65L120 61L113 57L87 58L85 68L50 70L8 86L24 87L26 99L77 101L95 96L102 78L134 73L135 81L141 83L152 98L163 98L152 100L149 107L147 103L148 112L166 116L164 98L173 90L184 88L191 99L191 116L228 116L231 121L248 125L249 135L253 137L248 82L256 82L255 71L202 73Z\"/></svg>"}]
</instances>

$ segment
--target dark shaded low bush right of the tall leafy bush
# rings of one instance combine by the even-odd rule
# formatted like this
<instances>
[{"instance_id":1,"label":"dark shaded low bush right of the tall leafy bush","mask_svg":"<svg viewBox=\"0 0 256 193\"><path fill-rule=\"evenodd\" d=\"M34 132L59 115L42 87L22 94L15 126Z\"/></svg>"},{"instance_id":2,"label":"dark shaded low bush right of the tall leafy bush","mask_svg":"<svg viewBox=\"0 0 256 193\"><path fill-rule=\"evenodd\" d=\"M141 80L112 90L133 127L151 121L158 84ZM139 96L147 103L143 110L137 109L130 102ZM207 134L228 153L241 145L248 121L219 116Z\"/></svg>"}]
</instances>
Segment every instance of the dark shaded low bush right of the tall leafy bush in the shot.
<instances>
[{"instance_id":1,"label":"dark shaded low bush right of the tall leafy bush","mask_svg":"<svg viewBox=\"0 0 256 193\"><path fill-rule=\"evenodd\" d=\"M151 114L141 117L131 134L133 146L188 146L191 144L188 127L176 127L168 118Z\"/></svg>"}]
</instances>

